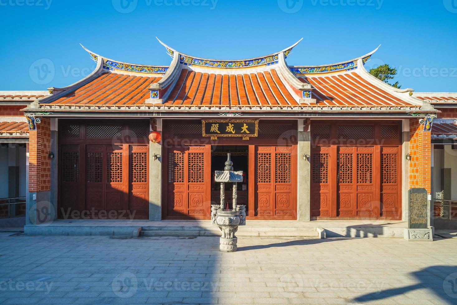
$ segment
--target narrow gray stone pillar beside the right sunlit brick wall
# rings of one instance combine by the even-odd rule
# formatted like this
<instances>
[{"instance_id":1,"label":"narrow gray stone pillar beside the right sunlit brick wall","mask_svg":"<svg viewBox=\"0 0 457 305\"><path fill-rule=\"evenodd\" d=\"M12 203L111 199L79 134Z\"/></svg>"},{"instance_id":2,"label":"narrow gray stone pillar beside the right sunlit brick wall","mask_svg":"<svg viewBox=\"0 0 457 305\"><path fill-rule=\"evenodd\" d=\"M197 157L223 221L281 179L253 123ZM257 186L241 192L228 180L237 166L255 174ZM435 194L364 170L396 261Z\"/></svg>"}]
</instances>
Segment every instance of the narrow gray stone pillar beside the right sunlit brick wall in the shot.
<instances>
[{"instance_id":1,"label":"narrow gray stone pillar beside the right sunlit brick wall","mask_svg":"<svg viewBox=\"0 0 457 305\"><path fill-rule=\"evenodd\" d=\"M409 120L402 120L402 148L400 158L402 160L402 220L408 221L409 216L409 161L406 160L406 155L409 153Z\"/></svg>"}]
</instances>

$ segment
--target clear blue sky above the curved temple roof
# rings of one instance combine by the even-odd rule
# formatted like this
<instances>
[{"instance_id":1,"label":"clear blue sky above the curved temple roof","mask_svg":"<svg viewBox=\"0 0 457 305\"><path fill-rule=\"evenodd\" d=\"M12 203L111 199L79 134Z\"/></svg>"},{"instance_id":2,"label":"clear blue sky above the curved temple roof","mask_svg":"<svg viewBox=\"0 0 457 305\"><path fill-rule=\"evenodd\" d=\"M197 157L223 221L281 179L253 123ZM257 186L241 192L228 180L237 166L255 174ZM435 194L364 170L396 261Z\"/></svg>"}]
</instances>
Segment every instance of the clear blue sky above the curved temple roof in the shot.
<instances>
[{"instance_id":1,"label":"clear blue sky above the curved temple roof","mask_svg":"<svg viewBox=\"0 0 457 305\"><path fill-rule=\"evenodd\" d=\"M457 91L457 0L0 0L0 90L72 84L95 53L168 65L162 41L197 57L243 59L304 38L287 62L335 63L382 44L416 91ZM40 74L38 74L40 73Z\"/></svg>"}]
</instances>

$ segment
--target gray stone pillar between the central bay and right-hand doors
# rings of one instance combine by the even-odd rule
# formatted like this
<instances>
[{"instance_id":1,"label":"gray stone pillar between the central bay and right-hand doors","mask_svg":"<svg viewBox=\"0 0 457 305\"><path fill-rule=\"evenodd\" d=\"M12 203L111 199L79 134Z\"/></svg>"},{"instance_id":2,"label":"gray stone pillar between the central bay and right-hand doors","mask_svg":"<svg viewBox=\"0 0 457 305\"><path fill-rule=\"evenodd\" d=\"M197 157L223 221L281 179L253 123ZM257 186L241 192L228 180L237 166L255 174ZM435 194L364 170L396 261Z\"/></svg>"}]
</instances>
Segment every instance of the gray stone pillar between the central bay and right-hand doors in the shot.
<instances>
[{"instance_id":1,"label":"gray stone pillar between the central bay and right-hand doors","mask_svg":"<svg viewBox=\"0 0 457 305\"><path fill-rule=\"evenodd\" d=\"M301 125L301 126L300 126ZM311 160L304 158L311 155L311 132L303 131L303 120L298 120L297 147L297 207L299 221L311 220Z\"/></svg>"}]
</instances>

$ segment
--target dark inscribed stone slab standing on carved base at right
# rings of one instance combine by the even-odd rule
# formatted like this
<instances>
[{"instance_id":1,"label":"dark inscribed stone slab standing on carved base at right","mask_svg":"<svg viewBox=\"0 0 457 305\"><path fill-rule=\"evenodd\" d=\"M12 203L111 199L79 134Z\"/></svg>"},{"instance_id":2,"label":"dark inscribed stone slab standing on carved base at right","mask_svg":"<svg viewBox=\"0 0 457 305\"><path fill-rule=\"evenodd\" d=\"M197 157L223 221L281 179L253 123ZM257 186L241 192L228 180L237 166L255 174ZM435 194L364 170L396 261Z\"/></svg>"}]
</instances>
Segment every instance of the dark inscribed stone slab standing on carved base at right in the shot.
<instances>
[{"instance_id":1,"label":"dark inscribed stone slab standing on carved base at right","mask_svg":"<svg viewBox=\"0 0 457 305\"><path fill-rule=\"evenodd\" d=\"M409 189L409 229L427 229L428 194L426 189Z\"/></svg>"}]
</instances>

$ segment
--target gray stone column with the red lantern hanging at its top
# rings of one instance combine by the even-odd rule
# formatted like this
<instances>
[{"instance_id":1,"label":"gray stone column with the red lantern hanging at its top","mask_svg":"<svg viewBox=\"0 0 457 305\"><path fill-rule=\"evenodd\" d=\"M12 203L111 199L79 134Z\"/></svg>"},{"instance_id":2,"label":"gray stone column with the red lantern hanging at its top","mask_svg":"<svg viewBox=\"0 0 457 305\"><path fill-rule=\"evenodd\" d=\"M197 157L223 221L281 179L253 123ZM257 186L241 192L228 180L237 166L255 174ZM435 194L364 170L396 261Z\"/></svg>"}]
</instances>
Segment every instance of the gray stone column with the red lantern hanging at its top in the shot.
<instances>
[{"instance_id":1,"label":"gray stone column with the red lantern hanging at its top","mask_svg":"<svg viewBox=\"0 0 457 305\"><path fill-rule=\"evenodd\" d=\"M157 119L157 131L162 133L161 119ZM153 131L152 127L150 131ZM162 219L162 144L149 142L149 220ZM163 149L166 152L165 149ZM154 160L154 155L157 160Z\"/></svg>"}]
</instances>

